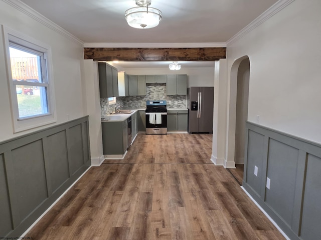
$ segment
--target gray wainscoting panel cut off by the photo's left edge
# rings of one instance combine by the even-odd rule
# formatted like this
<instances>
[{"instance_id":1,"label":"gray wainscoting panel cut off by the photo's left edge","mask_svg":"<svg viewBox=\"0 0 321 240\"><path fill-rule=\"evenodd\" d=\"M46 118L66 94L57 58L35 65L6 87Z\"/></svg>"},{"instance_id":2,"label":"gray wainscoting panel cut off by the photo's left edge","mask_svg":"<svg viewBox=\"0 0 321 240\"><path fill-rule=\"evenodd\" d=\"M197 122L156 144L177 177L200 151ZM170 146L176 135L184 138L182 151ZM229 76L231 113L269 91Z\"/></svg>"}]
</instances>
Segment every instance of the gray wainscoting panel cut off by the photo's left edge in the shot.
<instances>
[{"instance_id":1,"label":"gray wainscoting panel cut off by the photo's left edge","mask_svg":"<svg viewBox=\"0 0 321 240\"><path fill-rule=\"evenodd\" d=\"M0 154L0 236L12 230L12 217L9 203L4 154Z\"/></svg>"}]
</instances>

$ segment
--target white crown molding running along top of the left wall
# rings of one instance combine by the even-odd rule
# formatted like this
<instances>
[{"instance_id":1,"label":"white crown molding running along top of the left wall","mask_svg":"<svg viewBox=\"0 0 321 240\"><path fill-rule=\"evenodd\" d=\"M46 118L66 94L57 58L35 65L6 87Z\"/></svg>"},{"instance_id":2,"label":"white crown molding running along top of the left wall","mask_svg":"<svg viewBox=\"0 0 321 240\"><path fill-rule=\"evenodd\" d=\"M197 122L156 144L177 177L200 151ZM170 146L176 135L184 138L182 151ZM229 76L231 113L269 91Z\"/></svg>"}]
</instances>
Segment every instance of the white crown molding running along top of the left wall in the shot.
<instances>
[{"instance_id":1,"label":"white crown molding running along top of the left wall","mask_svg":"<svg viewBox=\"0 0 321 240\"><path fill-rule=\"evenodd\" d=\"M84 42L82 40L80 40L79 38L77 38L76 36L71 34L70 32L66 31L64 28L62 28L61 26L57 25L53 21L49 20L47 17L45 17L44 15L40 14L38 11L36 11L33 8L31 8L30 6L28 6L24 2L22 2L20 0L2 0L2 1L4 1L7 4L15 7L19 11L21 11L21 12L25 13L26 15L32 17L33 19L39 21L40 23L42 23L45 26L51 28L52 30L60 33L61 35L73 40L74 42L78 43L79 45L81 45L81 46L84 45Z\"/></svg>"}]
</instances>

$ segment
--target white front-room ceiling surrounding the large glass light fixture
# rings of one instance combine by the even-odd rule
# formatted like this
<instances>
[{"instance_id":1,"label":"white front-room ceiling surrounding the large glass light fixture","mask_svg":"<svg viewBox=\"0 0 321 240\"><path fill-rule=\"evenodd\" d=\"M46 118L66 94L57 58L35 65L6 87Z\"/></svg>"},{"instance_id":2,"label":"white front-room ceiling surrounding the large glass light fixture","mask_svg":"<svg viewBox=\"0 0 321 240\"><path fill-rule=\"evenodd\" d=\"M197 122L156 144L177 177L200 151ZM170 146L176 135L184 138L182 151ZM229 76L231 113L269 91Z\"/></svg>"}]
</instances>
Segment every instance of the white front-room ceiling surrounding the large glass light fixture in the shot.
<instances>
[{"instance_id":1,"label":"white front-room ceiling surrounding the large glass light fixture","mask_svg":"<svg viewBox=\"0 0 321 240\"><path fill-rule=\"evenodd\" d=\"M130 27L135 0L21 0L86 43L225 43L277 0L151 0L163 20ZM150 47L150 46L146 46ZM156 66L157 67L157 66ZM183 66L182 66L183 67Z\"/></svg>"}]
</instances>

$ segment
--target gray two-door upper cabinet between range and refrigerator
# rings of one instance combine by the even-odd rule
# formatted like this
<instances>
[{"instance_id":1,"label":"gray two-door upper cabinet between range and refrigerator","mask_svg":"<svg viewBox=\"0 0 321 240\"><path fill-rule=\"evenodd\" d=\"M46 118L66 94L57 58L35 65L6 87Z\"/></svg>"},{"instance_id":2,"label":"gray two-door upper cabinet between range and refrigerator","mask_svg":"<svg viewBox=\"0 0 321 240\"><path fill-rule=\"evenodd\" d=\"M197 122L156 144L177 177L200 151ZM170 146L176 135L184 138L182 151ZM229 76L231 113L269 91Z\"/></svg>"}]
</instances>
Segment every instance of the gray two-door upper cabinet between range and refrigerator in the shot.
<instances>
[{"instance_id":1,"label":"gray two-door upper cabinet between range and refrigerator","mask_svg":"<svg viewBox=\"0 0 321 240\"><path fill-rule=\"evenodd\" d=\"M166 77L167 95L186 95L187 94L187 75L167 75Z\"/></svg>"}]
</instances>

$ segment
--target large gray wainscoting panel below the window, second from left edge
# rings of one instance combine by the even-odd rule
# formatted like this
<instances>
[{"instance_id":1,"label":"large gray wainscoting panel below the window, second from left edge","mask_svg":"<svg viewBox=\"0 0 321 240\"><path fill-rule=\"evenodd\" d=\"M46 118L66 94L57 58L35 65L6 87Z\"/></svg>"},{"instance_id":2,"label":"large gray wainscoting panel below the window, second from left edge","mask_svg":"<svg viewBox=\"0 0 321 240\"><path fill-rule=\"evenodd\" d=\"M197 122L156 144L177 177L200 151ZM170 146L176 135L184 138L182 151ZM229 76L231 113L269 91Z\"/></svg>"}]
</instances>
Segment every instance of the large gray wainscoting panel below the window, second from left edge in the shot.
<instances>
[{"instance_id":1,"label":"large gray wainscoting panel below the window, second from left edge","mask_svg":"<svg viewBox=\"0 0 321 240\"><path fill-rule=\"evenodd\" d=\"M11 152L15 172L15 196L22 221L48 197L42 140L20 146Z\"/></svg>"}]
</instances>

